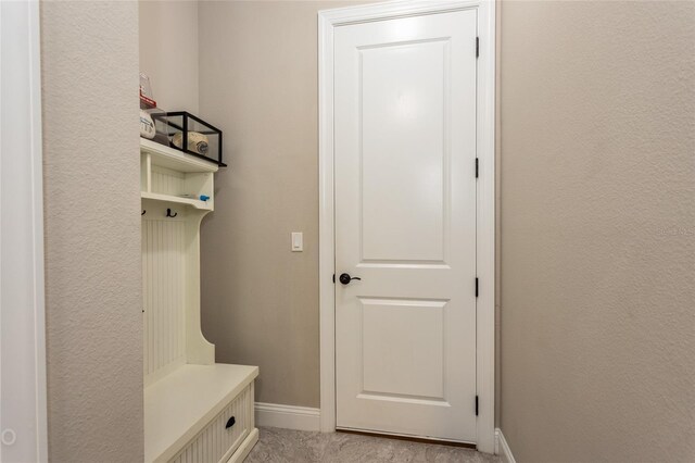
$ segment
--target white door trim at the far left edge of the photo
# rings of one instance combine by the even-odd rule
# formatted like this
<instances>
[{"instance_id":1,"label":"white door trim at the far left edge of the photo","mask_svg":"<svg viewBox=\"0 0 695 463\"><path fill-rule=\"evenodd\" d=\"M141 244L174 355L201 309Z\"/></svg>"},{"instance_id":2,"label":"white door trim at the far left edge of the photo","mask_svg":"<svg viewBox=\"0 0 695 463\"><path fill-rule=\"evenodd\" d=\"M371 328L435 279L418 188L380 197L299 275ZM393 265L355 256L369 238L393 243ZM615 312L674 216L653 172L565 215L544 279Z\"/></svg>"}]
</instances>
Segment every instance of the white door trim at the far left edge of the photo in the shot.
<instances>
[{"instance_id":1,"label":"white door trim at the far left edge of the photo","mask_svg":"<svg viewBox=\"0 0 695 463\"><path fill-rule=\"evenodd\" d=\"M39 28L38 0L1 2L0 461L48 461Z\"/></svg>"}]
</instances>

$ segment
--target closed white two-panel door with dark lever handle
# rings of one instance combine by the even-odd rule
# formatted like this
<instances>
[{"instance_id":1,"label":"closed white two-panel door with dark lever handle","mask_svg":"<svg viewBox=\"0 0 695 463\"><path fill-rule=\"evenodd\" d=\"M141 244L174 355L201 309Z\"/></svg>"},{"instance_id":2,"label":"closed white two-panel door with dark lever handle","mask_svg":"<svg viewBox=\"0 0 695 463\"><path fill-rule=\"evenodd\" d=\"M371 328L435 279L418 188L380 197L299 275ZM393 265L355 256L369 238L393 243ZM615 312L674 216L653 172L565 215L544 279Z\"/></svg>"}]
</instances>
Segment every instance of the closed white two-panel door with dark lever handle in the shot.
<instances>
[{"instance_id":1,"label":"closed white two-panel door with dark lever handle","mask_svg":"<svg viewBox=\"0 0 695 463\"><path fill-rule=\"evenodd\" d=\"M336 29L338 428L476 441L476 14Z\"/></svg>"}]
</instances>

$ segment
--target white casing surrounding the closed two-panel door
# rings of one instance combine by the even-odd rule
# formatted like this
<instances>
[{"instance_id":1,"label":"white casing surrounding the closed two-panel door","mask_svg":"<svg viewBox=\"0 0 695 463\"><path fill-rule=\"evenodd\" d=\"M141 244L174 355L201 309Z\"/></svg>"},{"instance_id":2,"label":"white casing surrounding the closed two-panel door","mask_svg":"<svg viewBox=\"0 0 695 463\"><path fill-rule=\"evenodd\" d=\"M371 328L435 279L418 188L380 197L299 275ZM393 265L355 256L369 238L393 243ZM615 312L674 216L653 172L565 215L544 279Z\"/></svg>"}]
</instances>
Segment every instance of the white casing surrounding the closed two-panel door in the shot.
<instances>
[{"instance_id":1,"label":"white casing surrounding the closed two-panel door","mask_svg":"<svg viewBox=\"0 0 695 463\"><path fill-rule=\"evenodd\" d=\"M341 25L376 20L478 11L477 299L476 388L478 450L494 451L494 278L495 278L495 3L494 0L418 0L349 7L318 13L319 100L319 314L320 428L336 430L336 286L333 197L333 32Z\"/></svg>"}]
</instances>

